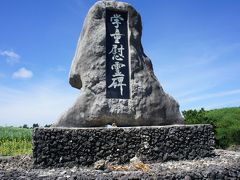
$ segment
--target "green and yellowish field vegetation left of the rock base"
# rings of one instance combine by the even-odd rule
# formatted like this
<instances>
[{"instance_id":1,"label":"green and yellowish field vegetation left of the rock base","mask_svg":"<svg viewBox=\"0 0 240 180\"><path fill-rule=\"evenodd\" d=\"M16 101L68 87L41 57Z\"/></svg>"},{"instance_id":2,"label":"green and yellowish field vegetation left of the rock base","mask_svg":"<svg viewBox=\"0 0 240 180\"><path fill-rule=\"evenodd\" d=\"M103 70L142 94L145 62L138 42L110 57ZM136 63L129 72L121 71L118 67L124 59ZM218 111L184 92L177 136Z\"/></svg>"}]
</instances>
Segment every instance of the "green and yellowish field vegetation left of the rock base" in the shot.
<instances>
[{"instance_id":1,"label":"green and yellowish field vegetation left of the rock base","mask_svg":"<svg viewBox=\"0 0 240 180\"><path fill-rule=\"evenodd\" d=\"M31 129L0 127L0 156L15 156L31 153Z\"/></svg>"}]
</instances>

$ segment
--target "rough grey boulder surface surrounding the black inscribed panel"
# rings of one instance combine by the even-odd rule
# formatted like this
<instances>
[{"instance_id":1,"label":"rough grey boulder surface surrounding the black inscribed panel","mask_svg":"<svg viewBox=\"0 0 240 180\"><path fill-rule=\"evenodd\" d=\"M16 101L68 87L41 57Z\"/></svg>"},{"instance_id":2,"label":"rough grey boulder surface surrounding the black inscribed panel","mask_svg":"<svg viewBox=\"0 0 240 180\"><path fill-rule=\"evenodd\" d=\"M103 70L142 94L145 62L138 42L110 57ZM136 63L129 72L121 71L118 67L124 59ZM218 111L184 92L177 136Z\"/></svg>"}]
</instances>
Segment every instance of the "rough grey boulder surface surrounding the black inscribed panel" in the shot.
<instances>
[{"instance_id":1,"label":"rough grey boulder surface surrounding the black inscribed panel","mask_svg":"<svg viewBox=\"0 0 240 180\"><path fill-rule=\"evenodd\" d=\"M105 9L128 11L130 99L106 98ZM56 127L182 124L178 103L163 91L141 45L142 23L127 3L98 1L88 12L70 72L70 84L81 93Z\"/></svg>"}]
</instances>

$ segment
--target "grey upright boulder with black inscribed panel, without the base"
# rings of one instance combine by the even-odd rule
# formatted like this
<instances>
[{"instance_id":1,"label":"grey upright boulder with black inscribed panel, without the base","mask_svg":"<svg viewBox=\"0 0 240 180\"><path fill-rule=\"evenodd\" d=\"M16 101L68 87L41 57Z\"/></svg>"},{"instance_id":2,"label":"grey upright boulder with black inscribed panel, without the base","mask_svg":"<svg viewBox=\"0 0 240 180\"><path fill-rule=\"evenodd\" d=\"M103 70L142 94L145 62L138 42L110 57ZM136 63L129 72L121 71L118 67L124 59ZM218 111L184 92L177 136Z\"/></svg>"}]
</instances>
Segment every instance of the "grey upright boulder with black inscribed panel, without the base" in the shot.
<instances>
[{"instance_id":1,"label":"grey upright boulder with black inscribed panel, without the base","mask_svg":"<svg viewBox=\"0 0 240 180\"><path fill-rule=\"evenodd\" d=\"M81 90L80 96L54 127L183 124L178 103L154 75L141 36L141 17L131 5L93 5L70 71L69 82Z\"/></svg>"}]
</instances>

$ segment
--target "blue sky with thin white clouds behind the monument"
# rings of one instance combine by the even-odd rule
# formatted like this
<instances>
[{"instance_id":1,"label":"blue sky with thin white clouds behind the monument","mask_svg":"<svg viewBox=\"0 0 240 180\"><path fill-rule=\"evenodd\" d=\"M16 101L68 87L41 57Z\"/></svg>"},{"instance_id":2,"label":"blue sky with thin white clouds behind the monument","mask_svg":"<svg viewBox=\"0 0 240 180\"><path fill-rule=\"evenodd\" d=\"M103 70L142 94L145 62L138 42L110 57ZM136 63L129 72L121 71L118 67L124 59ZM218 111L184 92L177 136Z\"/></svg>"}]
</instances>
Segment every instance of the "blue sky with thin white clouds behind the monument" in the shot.
<instances>
[{"instance_id":1,"label":"blue sky with thin white clouds behind the monument","mask_svg":"<svg viewBox=\"0 0 240 180\"><path fill-rule=\"evenodd\" d=\"M80 91L68 84L93 0L0 1L0 125L51 124ZM126 0L142 43L181 110L240 106L239 0Z\"/></svg>"}]
</instances>

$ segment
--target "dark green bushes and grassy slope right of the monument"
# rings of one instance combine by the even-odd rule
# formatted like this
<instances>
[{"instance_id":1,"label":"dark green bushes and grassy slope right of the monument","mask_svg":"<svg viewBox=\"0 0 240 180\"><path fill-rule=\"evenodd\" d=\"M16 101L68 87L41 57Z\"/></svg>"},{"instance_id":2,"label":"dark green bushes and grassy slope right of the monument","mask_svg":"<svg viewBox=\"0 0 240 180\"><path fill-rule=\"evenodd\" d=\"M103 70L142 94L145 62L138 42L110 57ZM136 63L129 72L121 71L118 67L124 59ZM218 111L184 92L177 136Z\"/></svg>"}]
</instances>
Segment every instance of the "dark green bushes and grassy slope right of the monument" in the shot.
<instances>
[{"instance_id":1,"label":"dark green bushes and grassy slope right of the monument","mask_svg":"<svg viewBox=\"0 0 240 180\"><path fill-rule=\"evenodd\" d=\"M187 124L212 124L218 148L240 145L240 107L183 111Z\"/></svg>"}]
</instances>

